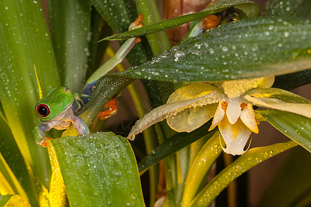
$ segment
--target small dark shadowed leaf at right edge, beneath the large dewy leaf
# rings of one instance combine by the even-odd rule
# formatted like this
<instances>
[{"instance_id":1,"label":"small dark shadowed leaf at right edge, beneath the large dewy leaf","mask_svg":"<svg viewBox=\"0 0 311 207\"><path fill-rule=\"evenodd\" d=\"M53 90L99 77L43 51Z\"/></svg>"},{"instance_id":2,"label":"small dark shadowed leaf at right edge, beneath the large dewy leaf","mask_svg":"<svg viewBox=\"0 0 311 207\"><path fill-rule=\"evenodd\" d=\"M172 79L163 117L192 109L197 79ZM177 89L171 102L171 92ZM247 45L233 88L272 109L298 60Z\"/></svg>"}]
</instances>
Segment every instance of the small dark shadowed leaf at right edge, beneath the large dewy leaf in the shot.
<instances>
[{"instance_id":1,"label":"small dark shadowed leaf at right edge, beneath the large dewy leaf","mask_svg":"<svg viewBox=\"0 0 311 207\"><path fill-rule=\"evenodd\" d=\"M272 87L292 90L309 83L311 83L311 69L277 76Z\"/></svg>"}]
</instances>

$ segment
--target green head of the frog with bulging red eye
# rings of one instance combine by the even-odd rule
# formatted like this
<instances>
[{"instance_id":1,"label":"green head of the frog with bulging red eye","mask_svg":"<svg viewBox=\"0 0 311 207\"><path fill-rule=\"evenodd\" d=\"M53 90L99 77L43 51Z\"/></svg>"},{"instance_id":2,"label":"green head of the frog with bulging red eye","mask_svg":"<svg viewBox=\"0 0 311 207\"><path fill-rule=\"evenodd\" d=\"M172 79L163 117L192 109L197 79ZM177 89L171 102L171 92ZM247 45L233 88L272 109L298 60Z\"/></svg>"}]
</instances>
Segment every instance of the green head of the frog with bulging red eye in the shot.
<instances>
[{"instance_id":1,"label":"green head of the frog with bulging red eye","mask_svg":"<svg viewBox=\"0 0 311 207\"><path fill-rule=\"evenodd\" d=\"M51 121L70 108L73 105L73 101L73 92L68 88L51 88L46 95L38 101L35 107L35 114L41 123Z\"/></svg>"}]
</instances>

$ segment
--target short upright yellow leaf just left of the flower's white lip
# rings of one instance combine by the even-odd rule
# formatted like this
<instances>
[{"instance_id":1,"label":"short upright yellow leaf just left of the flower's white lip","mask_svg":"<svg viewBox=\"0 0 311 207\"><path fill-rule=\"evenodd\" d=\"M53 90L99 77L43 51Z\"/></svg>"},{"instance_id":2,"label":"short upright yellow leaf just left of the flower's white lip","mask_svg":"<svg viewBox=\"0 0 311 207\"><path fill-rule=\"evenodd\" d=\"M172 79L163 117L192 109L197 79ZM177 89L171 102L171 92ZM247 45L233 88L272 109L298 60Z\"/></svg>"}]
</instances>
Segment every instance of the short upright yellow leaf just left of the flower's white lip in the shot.
<instances>
[{"instance_id":1,"label":"short upright yellow leaf just left of the flower's white lip","mask_svg":"<svg viewBox=\"0 0 311 207\"><path fill-rule=\"evenodd\" d=\"M205 182L207 172L214 164L218 156L223 152L220 146L219 132L214 133L213 137L209 139L202 146L200 152L196 156L193 164L191 165L187 179L185 180L184 194L182 195L182 205L188 206L198 193L199 187L202 182Z\"/></svg>"}]
</instances>

